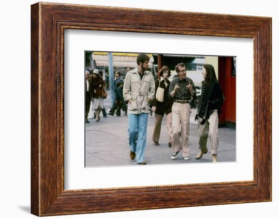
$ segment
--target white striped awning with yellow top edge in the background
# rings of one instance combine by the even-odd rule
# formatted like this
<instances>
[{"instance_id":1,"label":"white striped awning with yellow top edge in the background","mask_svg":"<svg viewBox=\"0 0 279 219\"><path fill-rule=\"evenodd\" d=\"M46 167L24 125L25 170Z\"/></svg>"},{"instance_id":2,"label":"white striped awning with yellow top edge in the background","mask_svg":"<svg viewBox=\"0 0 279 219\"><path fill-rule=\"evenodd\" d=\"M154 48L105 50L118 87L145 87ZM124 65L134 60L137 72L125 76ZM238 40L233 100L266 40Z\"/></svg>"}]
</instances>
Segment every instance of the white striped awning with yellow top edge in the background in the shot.
<instances>
[{"instance_id":1,"label":"white striped awning with yellow top edge in the background","mask_svg":"<svg viewBox=\"0 0 279 219\"><path fill-rule=\"evenodd\" d=\"M116 68L135 68L137 53L116 53L113 52L113 65ZM149 66L153 66L154 58L149 55ZM109 58L106 52L93 52L92 59L95 61L97 67L108 67Z\"/></svg>"}]
</instances>

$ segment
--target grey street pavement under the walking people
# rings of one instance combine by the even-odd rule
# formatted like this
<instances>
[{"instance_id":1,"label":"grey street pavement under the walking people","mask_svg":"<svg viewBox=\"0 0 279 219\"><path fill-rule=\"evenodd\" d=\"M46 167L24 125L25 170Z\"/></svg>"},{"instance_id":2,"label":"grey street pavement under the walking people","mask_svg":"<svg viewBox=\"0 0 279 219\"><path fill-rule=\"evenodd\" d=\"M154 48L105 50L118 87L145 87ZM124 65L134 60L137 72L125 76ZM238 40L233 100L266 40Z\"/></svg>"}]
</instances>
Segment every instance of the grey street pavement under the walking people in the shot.
<instances>
[{"instance_id":1,"label":"grey street pavement under the walking people","mask_svg":"<svg viewBox=\"0 0 279 219\"><path fill-rule=\"evenodd\" d=\"M104 107L109 110L110 100L104 100ZM86 167L100 166L129 166L137 165L130 160L130 149L128 145L128 117L118 117L116 115L108 115L107 118L102 117L100 113L100 121L89 119L90 123L85 123L85 165ZM198 126L194 121L196 109L192 109L190 117L190 160L183 160L180 152L176 160L171 160L171 148L168 147L168 136L166 129L166 118L163 117L160 145L154 145L151 135L154 127L155 116L148 117L147 128L147 145L145 159L147 165L161 164L181 164L181 163L203 163L212 162L210 153L210 141L207 141L208 152L203 154L200 160L195 160L198 149ZM219 147L218 162L235 162L236 159L236 137L235 129L219 128Z\"/></svg>"}]
</instances>

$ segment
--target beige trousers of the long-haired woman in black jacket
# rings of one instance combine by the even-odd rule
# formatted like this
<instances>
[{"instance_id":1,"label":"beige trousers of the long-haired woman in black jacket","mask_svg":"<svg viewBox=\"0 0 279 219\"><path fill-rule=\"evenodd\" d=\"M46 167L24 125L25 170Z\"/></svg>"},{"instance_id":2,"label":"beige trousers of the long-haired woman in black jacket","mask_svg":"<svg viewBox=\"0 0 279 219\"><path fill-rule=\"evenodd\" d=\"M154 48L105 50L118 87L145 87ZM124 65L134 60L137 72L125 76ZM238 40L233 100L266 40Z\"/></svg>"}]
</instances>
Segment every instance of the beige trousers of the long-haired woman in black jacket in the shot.
<instances>
[{"instance_id":1,"label":"beige trousers of the long-haired woman in black jacket","mask_svg":"<svg viewBox=\"0 0 279 219\"><path fill-rule=\"evenodd\" d=\"M205 120L204 124L200 124L202 118L198 118L198 131L199 131L199 149L206 148L207 137L209 135L211 141L211 154L217 154L219 144L218 137L218 111L214 110L210 117Z\"/></svg>"}]
</instances>

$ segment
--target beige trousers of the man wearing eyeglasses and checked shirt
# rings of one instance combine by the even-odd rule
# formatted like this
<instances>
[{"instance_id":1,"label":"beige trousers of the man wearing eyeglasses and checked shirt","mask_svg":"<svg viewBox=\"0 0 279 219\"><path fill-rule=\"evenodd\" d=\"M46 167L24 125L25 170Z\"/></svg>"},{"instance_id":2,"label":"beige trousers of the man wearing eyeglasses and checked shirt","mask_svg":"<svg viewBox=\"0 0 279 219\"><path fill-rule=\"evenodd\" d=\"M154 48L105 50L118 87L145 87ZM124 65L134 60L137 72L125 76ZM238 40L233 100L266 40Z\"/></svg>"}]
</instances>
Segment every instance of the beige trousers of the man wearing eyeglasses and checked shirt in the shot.
<instances>
[{"instance_id":1,"label":"beige trousers of the man wearing eyeglasses and checked shirt","mask_svg":"<svg viewBox=\"0 0 279 219\"><path fill-rule=\"evenodd\" d=\"M172 105L172 153L182 150L182 156L189 156L190 104L173 103Z\"/></svg>"}]
</instances>

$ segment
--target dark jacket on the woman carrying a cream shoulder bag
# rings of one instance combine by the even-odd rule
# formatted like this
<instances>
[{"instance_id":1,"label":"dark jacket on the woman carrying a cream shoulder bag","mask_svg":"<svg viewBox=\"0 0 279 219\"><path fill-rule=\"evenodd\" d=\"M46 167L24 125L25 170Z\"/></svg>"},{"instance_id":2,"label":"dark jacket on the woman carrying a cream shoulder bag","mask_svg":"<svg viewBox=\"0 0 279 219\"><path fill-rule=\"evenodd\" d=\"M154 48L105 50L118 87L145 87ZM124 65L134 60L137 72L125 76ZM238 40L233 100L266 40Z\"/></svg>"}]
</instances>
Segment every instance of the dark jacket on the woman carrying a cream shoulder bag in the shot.
<instances>
[{"instance_id":1,"label":"dark jacket on the woman carrying a cream shoulder bag","mask_svg":"<svg viewBox=\"0 0 279 219\"><path fill-rule=\"evenodd\" d=\"M164 80L160 81L160 87L164 89L164 102L156 101L156 99L153 102L153 106L156 106L155 113L159 115L164 115L165 113L166 114L171 113L171 107L173 104L173 101L168 98L168 89L169 89L170 81L166 80L166 82L167 82L167 87L164 83ZM158 86L159 86L159 80L157 79L155 80L155 97L156 97Z\"/></svg>"}]
</instances>

